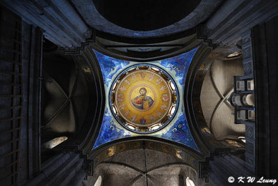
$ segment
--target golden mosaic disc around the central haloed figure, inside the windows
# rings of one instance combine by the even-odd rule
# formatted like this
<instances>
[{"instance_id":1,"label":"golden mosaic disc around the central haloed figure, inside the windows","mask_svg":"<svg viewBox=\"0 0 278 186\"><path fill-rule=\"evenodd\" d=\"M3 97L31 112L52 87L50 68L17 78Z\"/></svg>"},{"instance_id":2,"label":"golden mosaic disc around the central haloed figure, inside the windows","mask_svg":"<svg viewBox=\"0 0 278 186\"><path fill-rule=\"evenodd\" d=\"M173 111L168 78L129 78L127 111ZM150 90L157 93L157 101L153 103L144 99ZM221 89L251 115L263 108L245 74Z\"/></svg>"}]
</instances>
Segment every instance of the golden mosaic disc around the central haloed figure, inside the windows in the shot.
<instances>
[{"instance_id":1,"label":"golden mosaic disc around the central haloed figure, inside the windows","mask_svg":"<svg viewBox=\"0 0 278 186\"><path fill-rule=\"evenodd\" d=\"M138 109L133 102L140 95L140 88L147 90L146 96L153 103ZM170 109L172 95L165 79L152 70L135 70L120 80L115 88L115 107L124 120L135 125L148 127L160 122ZM145 124L142 124L142 118Z\"/></svg>"}]
</instances>

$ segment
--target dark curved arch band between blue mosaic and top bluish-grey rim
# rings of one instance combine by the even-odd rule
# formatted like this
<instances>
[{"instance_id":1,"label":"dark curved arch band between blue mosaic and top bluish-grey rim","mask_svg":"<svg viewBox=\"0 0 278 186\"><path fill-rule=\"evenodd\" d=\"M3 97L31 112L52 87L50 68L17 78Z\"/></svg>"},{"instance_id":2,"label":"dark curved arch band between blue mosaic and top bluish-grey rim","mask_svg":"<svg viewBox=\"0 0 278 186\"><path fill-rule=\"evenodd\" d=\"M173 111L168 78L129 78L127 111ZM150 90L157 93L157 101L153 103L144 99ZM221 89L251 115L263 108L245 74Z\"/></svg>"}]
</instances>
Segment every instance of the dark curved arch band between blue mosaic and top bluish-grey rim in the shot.
<instances>
[{"instance_id":1,"label":"dark curved arch band between blue mosaic and top bluish-grey rim","mask_svg":"<svg viewBox=\"0 0 278 186\"><path fill-rule=\"evenodd\" d=\"M100 31L95 33L96 42L92 48L97 52L115 59L137 62L170 58L201 44L196 38L196 28L161 38L124 38Z\"/></svg>"}]
</instances>

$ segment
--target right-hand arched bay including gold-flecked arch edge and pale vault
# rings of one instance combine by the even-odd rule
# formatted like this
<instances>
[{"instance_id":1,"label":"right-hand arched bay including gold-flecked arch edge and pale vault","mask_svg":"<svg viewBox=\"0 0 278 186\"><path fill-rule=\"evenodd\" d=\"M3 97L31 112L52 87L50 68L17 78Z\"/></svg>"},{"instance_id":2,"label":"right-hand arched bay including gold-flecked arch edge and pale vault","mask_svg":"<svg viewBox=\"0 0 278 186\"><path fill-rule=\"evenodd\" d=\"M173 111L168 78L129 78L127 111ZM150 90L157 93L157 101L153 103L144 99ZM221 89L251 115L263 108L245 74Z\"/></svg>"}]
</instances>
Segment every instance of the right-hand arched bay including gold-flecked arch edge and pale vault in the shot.
<instances>
[{"instance_id":1,"label":"right-hand arched bay including gold-flecked arch edge and pale vault","mask_svg":"<svg viewBox=\"0 0 278 186\"><path fill-rule=\"evenodd\" d=\"M199 63L193 83L193 114L196 125L206 139L208 148L230 148L234 155L245 160L245 142L240 139L245 137L245 124L236 122L238 116L233 104L238 102L245 106L243 101L253 104L252 96L245 98L243 94L238 96L235 92L235 78L244 75L242 52L212 52ZM247 84L246 81L245 92L250 93L252 91L247 90ZM252 111L251 106L247 103L246 106ZM248 114L246 112L246 117Z\"/></svg>"}]
</instances>

